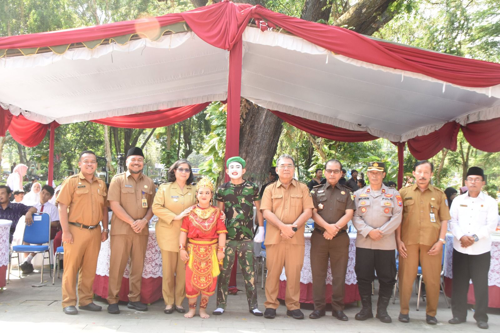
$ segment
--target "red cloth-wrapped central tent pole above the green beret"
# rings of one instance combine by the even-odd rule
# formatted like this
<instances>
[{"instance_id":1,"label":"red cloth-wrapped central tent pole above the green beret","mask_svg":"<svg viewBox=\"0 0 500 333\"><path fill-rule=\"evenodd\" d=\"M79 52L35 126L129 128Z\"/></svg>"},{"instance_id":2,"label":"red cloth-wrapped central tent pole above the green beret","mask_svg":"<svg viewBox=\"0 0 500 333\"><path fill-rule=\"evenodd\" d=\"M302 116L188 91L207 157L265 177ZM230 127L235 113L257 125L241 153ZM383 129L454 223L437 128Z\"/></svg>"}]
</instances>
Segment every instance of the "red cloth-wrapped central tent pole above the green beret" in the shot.
<instances>
[{"instance_id":1,"label":"red cloth-wrapped central tent pole above the green beret","mask_svg":"<svg viewBox=\"0 0 500 333\"><path fill-rule=\"evenodd\" d=\"M241 37L229 50L229 82L227 84L227 121L225 136L225 161L239 155L239 116L241 99L241 63L243 56L243 41ZM229 176L225 174L225 181Z\"/></svg>"}]
</instances>

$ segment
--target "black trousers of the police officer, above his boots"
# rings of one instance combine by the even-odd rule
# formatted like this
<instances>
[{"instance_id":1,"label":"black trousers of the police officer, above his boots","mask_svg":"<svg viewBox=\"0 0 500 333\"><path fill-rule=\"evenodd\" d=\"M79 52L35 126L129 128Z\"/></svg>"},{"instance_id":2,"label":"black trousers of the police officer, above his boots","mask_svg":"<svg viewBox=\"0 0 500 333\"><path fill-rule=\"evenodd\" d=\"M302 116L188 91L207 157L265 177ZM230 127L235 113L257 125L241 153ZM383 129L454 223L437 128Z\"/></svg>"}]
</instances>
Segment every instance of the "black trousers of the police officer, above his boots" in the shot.
<instances>
[{"instance_id":1,"label":"black trousers of the police officer, above his boots","mask_svg":"<svg viewBox=\"0 0 500 333\"><path fill-rule=\"evenodd\" d=\"M356 247L354 271L360 296L371 295L371 282L378 278L378 296L390 298L396 283L395 250Z\"/></svg>"}]
</instances>

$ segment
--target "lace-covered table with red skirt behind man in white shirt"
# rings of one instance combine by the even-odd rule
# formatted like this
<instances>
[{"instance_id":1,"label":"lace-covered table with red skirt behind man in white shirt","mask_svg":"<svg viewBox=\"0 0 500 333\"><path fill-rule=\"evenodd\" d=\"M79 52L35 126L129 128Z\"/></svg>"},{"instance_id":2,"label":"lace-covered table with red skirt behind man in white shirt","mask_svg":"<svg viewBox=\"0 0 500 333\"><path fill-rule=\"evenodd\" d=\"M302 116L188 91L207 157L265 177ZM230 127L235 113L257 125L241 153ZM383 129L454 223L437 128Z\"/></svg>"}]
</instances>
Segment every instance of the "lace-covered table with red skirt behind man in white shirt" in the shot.
<instances>
[{"instance_id":1,"label":"lace-covered table with red skirt behind man in white shirt","mask_svg":"<svg viewBox=\"0 0 500 333\"><path fill-rule=\"evenodd\" d=\"M500 307L500 235L491 235L491 260L488 272L488 306ZM444 260L444 290L451 297L451 281L453 279L453 235L446 234L446 257ZM467 293L467 303L475 304L474 289L470 281Z\"/></svg>"}]
</instances>

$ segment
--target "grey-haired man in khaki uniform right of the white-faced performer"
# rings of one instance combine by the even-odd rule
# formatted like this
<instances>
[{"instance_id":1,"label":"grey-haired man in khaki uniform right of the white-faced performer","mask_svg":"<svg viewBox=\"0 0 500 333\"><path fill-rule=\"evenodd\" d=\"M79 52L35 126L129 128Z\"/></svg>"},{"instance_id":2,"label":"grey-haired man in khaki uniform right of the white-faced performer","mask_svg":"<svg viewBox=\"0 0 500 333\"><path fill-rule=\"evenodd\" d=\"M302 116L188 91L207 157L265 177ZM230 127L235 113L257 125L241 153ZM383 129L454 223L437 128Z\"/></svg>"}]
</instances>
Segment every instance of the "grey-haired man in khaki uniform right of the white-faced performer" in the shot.
<instances>
[{"instance_id":1,"label":"grey-haired man in khaki uniform right of the white-faced performer","mask_svg":"<svg viewBox=\"0 0 500 333\"><path fill-rule=\"evenodd\" d=\"M266 246L267 278L265 280L264 317L274 318L279 275L284 266L286 274L286 314L303 319L300 311L300 270L304 262L304 224L311 216L312 199L307 185L293 179L295 162L290 155L281 155L276 161L279 180L269 184L260 203L267 219L264 244Z\"/></svg>"}]
</instances>

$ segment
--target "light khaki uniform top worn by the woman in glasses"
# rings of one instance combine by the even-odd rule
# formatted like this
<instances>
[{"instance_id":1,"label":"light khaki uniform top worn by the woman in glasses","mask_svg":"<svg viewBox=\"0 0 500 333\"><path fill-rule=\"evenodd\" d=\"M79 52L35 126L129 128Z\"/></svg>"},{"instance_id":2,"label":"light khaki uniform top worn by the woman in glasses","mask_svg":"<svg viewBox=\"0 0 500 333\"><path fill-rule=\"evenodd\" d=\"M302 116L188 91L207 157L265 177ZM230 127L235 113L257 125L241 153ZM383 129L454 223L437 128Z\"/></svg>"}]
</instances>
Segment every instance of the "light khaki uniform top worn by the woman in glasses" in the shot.
<instances>
[{"instance_id":1,"label":"light khaki uniform top worn by the woman in glasses","mask_svg":"<svg viewBox=\"0 0 500 333\"><path fill-rule=\"evenodd\" d=\"M173 218L184 209L196 204L196 186L185 184L180 189L176 181L159 185L153 200L156 222L156 240L162 250L178 252L182 220Z\"/></svg>"}]
</instances>

